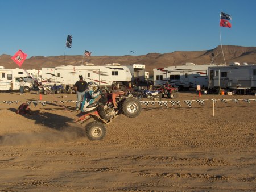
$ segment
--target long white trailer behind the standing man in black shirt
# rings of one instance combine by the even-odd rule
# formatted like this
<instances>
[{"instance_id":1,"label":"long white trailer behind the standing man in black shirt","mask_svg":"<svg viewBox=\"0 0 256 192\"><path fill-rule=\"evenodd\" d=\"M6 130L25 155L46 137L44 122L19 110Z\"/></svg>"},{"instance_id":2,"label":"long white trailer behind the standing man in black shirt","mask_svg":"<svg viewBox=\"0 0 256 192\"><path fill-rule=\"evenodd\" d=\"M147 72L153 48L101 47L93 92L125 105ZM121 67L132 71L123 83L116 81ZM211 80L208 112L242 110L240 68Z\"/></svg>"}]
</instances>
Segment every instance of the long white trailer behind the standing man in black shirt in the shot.
<instances>
[{"instance_id":1,"label":"long white trailer behind the standing man in black shirt","mask_svg":"<svg viewBox=\"0 0 256 192\"><path fill-rule=\"evenodd\" d=\"M72 85L82 75L86 82L94 81L100 86L112 86L113 82L130 82L131 73L126 66L120 64L58 66L42 68L42 85L65 84Z\"/></svg>"}]
</instances>

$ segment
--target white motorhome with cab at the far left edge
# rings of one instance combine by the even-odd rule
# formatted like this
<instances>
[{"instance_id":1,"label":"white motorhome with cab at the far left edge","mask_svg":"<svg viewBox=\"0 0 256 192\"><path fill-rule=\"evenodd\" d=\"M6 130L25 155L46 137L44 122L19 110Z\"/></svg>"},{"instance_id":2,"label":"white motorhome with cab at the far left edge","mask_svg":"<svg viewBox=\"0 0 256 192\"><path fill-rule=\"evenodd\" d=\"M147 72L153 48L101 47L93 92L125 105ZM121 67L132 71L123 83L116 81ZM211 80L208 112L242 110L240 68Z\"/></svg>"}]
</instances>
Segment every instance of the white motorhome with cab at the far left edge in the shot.
<instances>
[{"instance_id":1,"label":"white motorhome with cab at the far left edge","mask_svg":"<svg viewBox=\"0 0 256 192\"><path fill-rule=\"evenodd\" d=\"M27 77L24 69L0 68L0 90L19 90L20 80ZM25 82L24 92L29 92L33 88L31 82Z\"/></svg>"}]
</instances>

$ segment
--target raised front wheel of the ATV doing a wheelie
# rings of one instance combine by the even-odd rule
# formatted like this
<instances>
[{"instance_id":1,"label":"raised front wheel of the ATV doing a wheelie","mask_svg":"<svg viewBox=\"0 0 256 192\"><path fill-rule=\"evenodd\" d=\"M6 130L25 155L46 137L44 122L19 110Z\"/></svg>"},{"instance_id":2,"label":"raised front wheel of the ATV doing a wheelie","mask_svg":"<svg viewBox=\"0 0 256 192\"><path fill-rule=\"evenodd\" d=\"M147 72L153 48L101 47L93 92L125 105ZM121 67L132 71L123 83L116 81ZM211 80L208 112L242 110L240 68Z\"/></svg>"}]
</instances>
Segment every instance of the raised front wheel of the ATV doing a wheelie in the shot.
<instances>
[{"instance_id":1,"label":"raised front wheel of the ATV doing a wheelie","mask_svg":"<svg viewBox=\"0 0 256 192\"><path fill-rule=\"evenodd\" d=\"M126 99L122 104L122 113L129 118L135 118L141 113L141 108L141 102L138 99Z\"/></svg>"}]
</instances>

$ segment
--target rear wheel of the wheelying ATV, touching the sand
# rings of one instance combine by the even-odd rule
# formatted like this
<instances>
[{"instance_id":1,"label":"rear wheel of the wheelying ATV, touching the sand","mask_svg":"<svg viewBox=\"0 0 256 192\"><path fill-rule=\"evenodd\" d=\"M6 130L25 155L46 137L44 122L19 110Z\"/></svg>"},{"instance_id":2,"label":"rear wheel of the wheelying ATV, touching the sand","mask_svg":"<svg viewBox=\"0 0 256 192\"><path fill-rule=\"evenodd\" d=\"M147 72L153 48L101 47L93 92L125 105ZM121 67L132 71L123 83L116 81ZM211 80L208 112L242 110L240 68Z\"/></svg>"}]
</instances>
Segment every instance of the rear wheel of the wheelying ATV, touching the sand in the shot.
<instances>
[{"instance_id":1,"label":"rear wheel of the wheelying ATV, touching the sand","mask_svg":"<svg viewBox=\"0 0 256 192\"><path fill-rule=\"evenodd\" d=\"M102 140L106 136L106 127L94 120L85 126L86 135L90 140Z\"/></svg>"}]
</instances>

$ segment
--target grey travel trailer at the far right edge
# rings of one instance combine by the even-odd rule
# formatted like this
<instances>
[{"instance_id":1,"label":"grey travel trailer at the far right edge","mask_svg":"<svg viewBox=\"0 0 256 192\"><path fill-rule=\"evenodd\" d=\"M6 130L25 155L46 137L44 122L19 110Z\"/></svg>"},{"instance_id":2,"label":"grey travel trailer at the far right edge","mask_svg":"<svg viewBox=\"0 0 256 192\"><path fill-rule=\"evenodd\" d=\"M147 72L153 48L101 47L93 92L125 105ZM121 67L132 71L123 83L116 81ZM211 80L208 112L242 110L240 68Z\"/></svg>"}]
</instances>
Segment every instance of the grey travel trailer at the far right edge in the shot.
<instances>
[{"instance_id":1,"label":"grey travel trailer at the far right edge","mask_svg":"<svg viewBox=\"0 0 256 192\"><path fill-rule=\"evenodd\" d=\"M209 67L209 89L256 90L256 65ZM248 90L247 90L248 91Z\"/></svg>"}]
</instances>

